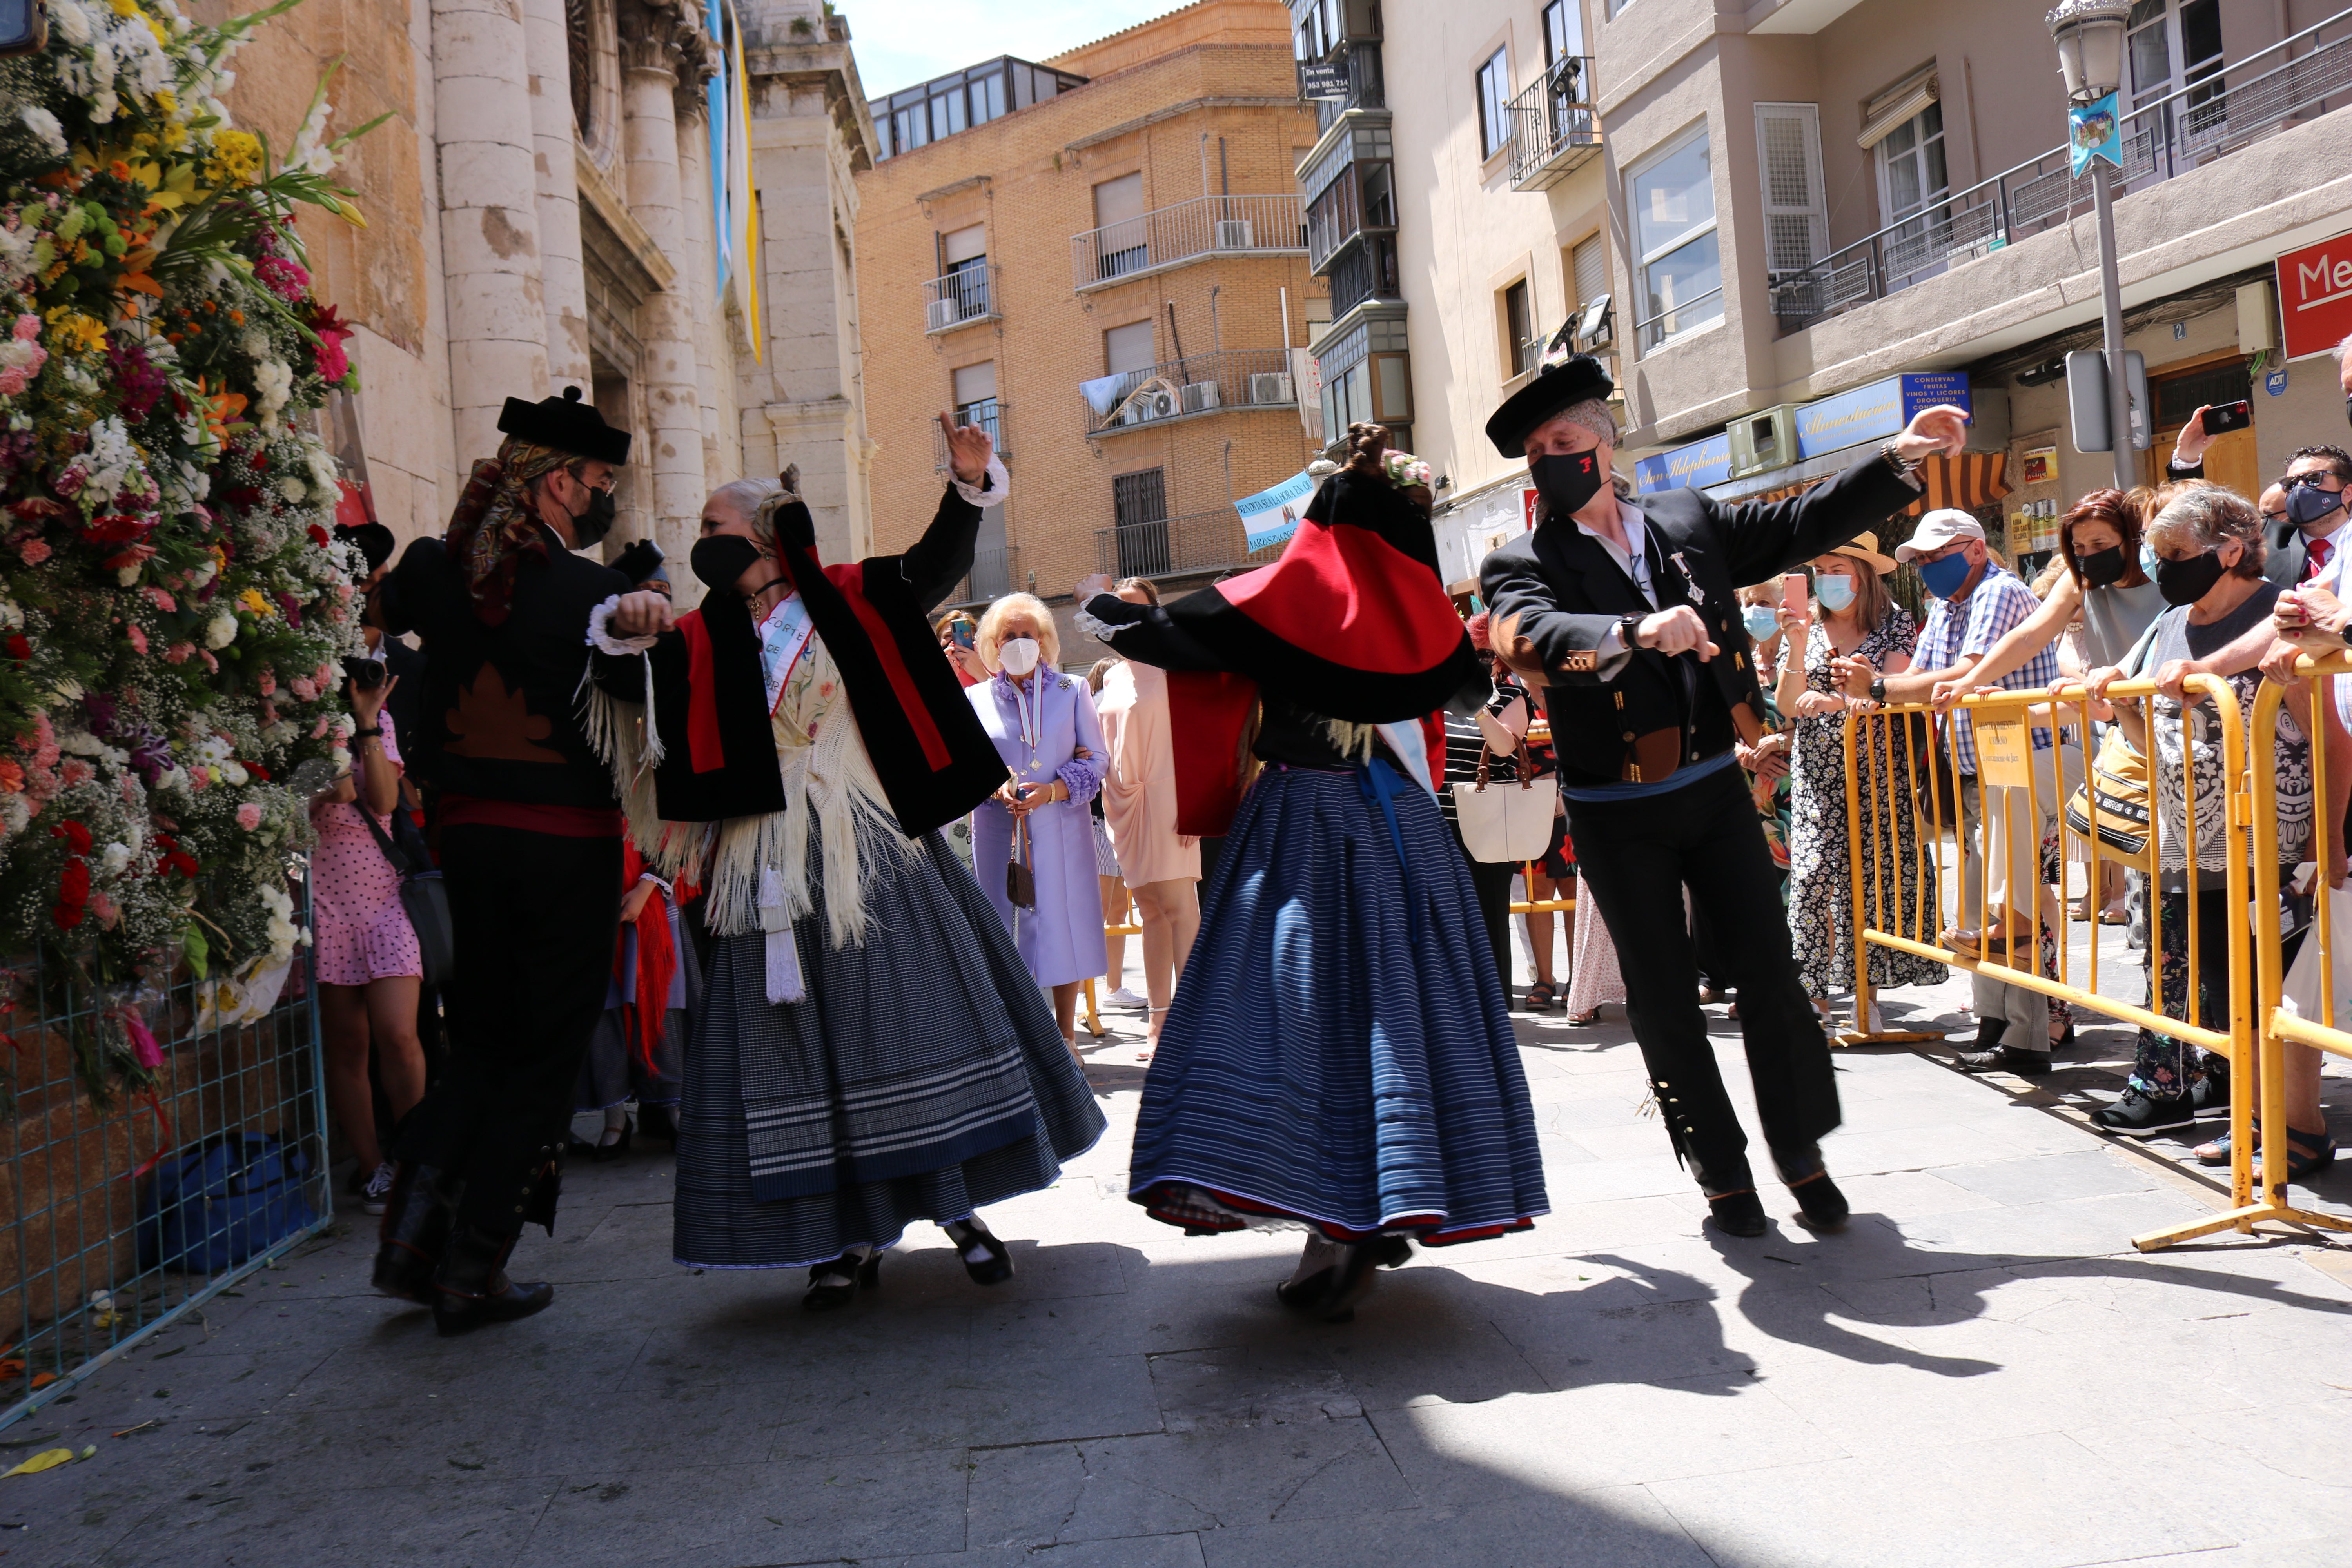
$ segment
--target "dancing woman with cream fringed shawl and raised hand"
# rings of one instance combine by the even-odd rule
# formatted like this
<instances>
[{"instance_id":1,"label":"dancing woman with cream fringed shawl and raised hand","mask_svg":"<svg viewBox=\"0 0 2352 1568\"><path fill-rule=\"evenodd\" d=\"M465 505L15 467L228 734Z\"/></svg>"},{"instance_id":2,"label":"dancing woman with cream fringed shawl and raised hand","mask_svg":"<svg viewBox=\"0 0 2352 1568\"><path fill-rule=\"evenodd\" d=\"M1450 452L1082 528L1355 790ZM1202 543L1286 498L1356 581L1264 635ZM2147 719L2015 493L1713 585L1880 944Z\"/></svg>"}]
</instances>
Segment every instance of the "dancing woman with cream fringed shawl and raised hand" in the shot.
<instances>
[{"instance_id":1,"label":"dancing woman with cream fringed shawl and raised hand","mask_svg":"<svg viewBox=\"0 0 2352 1568\"><path fill-rule=\"evenodd\" d=\"M797 475L739 480L703 508L701 609L659 642L590 632L590 729L630 832L656 872L699 872L713 936L675 1255L807 1267L809 1309L877 1284L910 1220L938 1222L974 1281L1009 1279L976 1211L1049 1187L1103 1133L938 837L1004 783L927 616L1007 480L985 433L948 442L955 482L906 555L823 567Z\"/></svg>"}]
</instances>

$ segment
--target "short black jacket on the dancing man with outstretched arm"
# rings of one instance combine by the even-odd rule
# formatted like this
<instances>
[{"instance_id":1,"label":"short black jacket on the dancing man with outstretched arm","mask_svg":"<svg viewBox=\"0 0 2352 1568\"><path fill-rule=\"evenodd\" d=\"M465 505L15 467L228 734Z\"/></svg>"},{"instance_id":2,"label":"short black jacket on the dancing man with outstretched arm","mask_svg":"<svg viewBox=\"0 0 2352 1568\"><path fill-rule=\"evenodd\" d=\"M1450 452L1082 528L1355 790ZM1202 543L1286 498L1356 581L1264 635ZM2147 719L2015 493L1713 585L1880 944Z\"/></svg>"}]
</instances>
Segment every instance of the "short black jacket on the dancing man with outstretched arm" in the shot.
<instances>
[{"instance_id":1,"label":"short black jacket on the dancing man with outstretched arm","mask_svg":"<svg viewBox=\"0 0 2352 1568\"><path fill-rule=\"evenodd\" d=\"M1755 654L1736 595L1875 529L1919 489L1872 456L1771 503L1722 505L1696 489L1639 496L1658 609L1689 604L1717 656L1635 649L1602 679L1597 649L1651 607L1597 538L1555 517L1491 552L1479 595L1494 649L1543 696L1562 783L1658 783L1762 726Z\"/></svg>"}]
</instances>

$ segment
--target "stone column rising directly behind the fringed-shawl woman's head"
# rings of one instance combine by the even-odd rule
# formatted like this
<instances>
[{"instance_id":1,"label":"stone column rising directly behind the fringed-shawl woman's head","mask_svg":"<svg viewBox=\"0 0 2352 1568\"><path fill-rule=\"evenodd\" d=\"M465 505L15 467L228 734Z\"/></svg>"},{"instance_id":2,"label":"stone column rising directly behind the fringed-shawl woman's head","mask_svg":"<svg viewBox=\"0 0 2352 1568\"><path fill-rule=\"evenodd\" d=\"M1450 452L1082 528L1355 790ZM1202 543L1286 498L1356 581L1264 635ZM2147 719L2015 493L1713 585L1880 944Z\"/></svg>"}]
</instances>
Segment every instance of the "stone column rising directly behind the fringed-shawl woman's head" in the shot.
<instances>
[{"instance_id":1,"label":"stone column rising directly behind the fringed-shawl woman's head","mask_svg":"<svg viewBox=\"0 0 2352 1568\"><path fill-rule=\"evenodd\" d=\"M694 310L687 301L687 214L677 172L677 78L682 24L670 12L633 5L621 16L621 115L628 158L628 209L663 256L677 263L668 287L637 306L644 360L644 407L654 449L654 543L673 562L694 550L703 512L703 407L694 362ZM680 602L701 599L691 574L673 585Z\"/></svg>"}]
</instances>

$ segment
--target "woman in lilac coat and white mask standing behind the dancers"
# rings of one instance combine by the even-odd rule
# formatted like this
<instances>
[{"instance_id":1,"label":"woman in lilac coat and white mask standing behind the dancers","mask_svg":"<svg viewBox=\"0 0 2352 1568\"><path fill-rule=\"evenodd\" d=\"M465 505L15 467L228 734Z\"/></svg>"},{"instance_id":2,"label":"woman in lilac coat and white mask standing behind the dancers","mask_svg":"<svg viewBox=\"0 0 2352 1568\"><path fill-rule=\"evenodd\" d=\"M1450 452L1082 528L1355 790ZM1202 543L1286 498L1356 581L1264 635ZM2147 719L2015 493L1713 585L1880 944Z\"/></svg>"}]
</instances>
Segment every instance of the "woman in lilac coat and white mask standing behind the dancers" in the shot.
<instances>
[{"instance_id":1,"label":"woman in lilac coat and white mask standing behind the dancers","mask_svg":"<svg viewBox=\"0 0 2352 1568\"><path fill-rule=\"evenodd\" d=\"M1087 682L1054 668L1061 635L1040 599L1014 592L990 604L974 651L990 677L964 696L1011 778L971 813L971 872L1011 926L1030 978L1054 990L1054 1023L1075 1053L1077 987L1108 969L1087 811L1108 766L1103 729ZM1021 844L1016 820L1028 827ZM1037 889L1033 910L1014 907L1007 891L1016 851Z\"/></svg>"}]
</instances>

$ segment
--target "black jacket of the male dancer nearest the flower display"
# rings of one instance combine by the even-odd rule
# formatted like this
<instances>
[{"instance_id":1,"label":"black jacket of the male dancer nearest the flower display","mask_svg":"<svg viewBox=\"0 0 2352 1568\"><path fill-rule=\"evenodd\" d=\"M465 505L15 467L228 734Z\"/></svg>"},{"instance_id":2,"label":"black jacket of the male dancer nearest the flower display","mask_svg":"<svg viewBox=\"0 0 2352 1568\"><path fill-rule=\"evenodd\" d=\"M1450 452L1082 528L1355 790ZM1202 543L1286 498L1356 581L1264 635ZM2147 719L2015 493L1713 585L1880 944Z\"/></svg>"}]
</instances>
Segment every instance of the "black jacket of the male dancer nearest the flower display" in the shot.
<instances>
[{"instance_id":1,"label":"black jacket of the male dancer nearest the flower display","mask_svg":"<svg viewBox=\"0 0 2352 1568\"><path fill-rule=\"evenodd\" d=\"M513 614L487 628L442 541L412 543L379 588L383 630L426 644L416 733L400 736L407 766L442 795L616 806L612 771L588 748L574 705L588 670L588 611L616 592L628 592L628 578L548 531L548 559L522 562Z\"/></svg>"}]
</instances>

